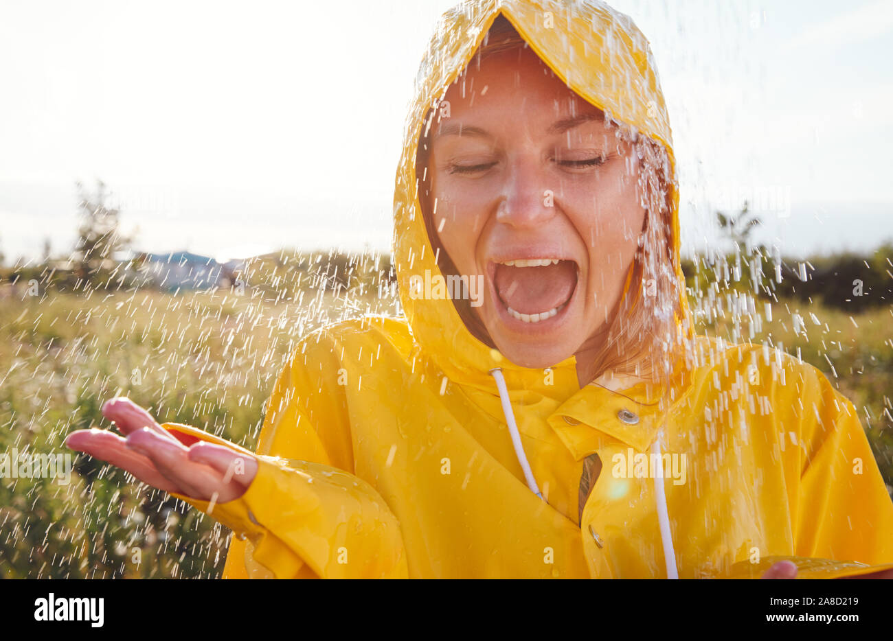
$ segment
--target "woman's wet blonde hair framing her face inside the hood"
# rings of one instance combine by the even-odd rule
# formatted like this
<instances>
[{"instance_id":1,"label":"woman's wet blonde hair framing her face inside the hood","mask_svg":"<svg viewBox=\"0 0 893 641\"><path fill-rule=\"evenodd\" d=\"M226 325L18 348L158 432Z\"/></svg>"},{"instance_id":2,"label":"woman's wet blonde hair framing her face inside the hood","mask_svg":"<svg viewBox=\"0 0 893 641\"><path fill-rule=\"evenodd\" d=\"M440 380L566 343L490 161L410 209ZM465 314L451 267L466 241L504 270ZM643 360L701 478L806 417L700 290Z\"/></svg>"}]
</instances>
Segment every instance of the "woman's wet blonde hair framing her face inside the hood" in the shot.
<instances>
[{"instance_id":1,"label":"woman's wet blonde hair framing her face inside the hood","mask_svg":"<svg viewBox=\"0 0 893 641\"><path fill-rule=\"evenodd\" d=\"M499 15L469 66L480 65L480 61L490 55L527 46L511 22ZM415 173L428 237L438 255L438 266L447 276L458 274L458 270L440 242L430 214L432 172L428 171L428 161L430 135L434 129L430 125L437 114L438 111L432 108L425 117ZM610 371L655 382L665 381L674 366L670 352L675 345L675 320L680 313L680 284L675 264L678 257L672 250L672 165L667 150L660 143L638 134L622 122L613 121L607 114L605 122L613 126L618 137L631 143L638 158L638 196L646 215L638 249L625 276L623 295L612 310L605 341L591 363L595 372L593 380ZM469 301L453 299L453 304L469 331L484 344L495 347Z\"/></svg>"}]
</instances>

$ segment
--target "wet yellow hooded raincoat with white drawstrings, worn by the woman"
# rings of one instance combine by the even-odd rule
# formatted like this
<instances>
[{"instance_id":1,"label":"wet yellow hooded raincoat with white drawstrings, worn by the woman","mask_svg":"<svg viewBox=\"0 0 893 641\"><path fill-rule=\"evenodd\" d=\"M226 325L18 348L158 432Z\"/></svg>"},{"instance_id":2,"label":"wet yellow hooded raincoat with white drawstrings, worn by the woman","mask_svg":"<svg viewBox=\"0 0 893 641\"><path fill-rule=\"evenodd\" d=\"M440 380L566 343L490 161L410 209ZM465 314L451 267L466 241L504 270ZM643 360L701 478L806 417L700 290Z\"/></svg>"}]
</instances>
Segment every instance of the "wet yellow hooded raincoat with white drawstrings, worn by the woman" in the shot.
<instances>
[{"instance_id":1,"label":"wet yellow hooded raincoat with white drawstrings, worn by the woman","mask_svg":"<svg viewBox=\"0 0 893 641\"><path fill-rule=\"evenodd\" d=\"M698 337L661 409L666 390L644 383L580 388L574 357L548 376L507 362L451 301L408 296L413 275L441 273L416 193L422 121L499 12L569 87L672 157L654 62L626 16L530 0L447 12L396 174L405 318L304 337L271 395L246 494L213 506L180 496L236 532L223 576L702 578L758 576L776 557L794 557L801 576L840 576L893 562L893 504L855 407L811 365ZM544 500L525 484L495 367ZM643 467L658 437L658 454L676 457L663 479ZM592 454L603 469L588 493Z\"/></svg>"}]
</instances>

